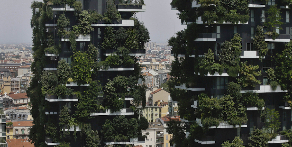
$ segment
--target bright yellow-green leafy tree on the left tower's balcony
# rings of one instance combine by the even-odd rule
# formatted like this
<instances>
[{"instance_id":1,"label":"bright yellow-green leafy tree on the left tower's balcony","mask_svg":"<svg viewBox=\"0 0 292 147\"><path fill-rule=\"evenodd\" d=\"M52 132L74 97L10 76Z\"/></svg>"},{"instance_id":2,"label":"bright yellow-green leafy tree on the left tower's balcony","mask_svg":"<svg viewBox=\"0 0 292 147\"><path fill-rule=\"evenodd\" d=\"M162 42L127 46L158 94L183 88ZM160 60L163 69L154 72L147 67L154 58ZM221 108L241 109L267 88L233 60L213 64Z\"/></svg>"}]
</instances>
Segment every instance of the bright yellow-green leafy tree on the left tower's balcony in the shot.
<instances>
[{"instance_id":1,"label":"bright yellow-green leafy tree on the left tower's balcony","mask_svg":"<svg viewBox=\"0 0 292 147\"><path fill-rule=\"evenodd\" d=\"M88 54L78 51L71 58L73 80L79 85L90 82L92 71Z\"/></svg>"}]
</instances>

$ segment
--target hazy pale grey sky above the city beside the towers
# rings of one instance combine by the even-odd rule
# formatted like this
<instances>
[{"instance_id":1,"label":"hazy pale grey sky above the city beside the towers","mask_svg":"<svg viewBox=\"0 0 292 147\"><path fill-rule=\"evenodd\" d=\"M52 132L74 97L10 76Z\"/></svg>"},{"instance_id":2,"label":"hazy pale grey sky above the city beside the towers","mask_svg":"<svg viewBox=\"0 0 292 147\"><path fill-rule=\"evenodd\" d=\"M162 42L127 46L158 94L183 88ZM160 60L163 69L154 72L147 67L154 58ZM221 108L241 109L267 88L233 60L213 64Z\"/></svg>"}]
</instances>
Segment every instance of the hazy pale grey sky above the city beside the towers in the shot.
<instances>
[{"instance_id":1,"label":"hazy pale grey sky above the city beside the towers","mask_svg":"<svg viewBox=\"0 0 292 147\"><path fill-rule=\"evenodd\" d=\"M33 0L0 0L0 43L31 43L30 9ZM150 33L151 42L164 43L182 30L178 11L171 11L171 0L145 0L146 12L136 13Z\"/></svg>"}]
</instances>

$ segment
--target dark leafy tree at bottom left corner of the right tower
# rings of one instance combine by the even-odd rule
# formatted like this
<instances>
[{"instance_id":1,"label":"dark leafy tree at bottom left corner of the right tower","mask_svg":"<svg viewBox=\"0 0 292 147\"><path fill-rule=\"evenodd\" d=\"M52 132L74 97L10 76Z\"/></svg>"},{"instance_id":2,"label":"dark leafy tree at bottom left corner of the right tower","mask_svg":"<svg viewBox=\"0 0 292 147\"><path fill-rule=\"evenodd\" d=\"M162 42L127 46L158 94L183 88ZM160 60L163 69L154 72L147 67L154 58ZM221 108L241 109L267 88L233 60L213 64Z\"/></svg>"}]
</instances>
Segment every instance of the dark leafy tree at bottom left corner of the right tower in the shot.
<instances>
[{"instance_id":1,"label":"dark leafy tree at bottom left corner of the right tower","mask_svg":"<svg viewBox=\"0 0 292 147\"><path fill-rule=\"evenodd\" d=\"M185 139L185 125L183 122L171 120L167 124L166 132L172 134L173 137L170 139L170 143L176 143L177 145L182 144Z\"/></svg>"}]
</instances>

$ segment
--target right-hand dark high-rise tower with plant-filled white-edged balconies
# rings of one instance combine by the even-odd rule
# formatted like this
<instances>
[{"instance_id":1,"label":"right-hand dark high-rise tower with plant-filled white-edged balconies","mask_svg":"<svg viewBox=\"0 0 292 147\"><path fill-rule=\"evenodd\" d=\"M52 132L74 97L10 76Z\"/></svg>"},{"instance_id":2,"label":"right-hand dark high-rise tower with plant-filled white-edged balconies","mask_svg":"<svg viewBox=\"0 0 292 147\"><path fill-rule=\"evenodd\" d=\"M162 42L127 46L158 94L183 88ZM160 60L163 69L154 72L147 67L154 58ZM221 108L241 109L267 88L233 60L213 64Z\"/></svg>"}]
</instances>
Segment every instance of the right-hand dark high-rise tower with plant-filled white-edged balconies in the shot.
<instances>
[{"instance_id":1,"label":"right-hand dark high-rise tower with plant-filled white-edged balconies","mask_svg":"<svg viewBox=\"0 0 292 147\"><path fill-rule=\"evenodd\" d=\"M170 102L171 104L178 103L178 107L187 109L179 112L181 121L185 122L187 128L192 125L204 128L206 127L204 126L206 125L205 121L208 119L222 120L216 122L216 126L208 126L209 130L202 134L205 137L196 137L192 140L193 146L219 147L224 141L232 141L235 136L242 139L244 146L248 146L248 143L253 143L248 137L252 136L250 134L253 134L254 130L260 129L262 133L274 132L265 123L270 121L268 116L270 112L277 113L279 129L274 132L277 133L277 137L270 138L265 143L268 143L268 146L281 146L280 143L288 142L288 139L278 132L292 129L291 107L288 106L287 102L285 103L287 99L284 97L288 92L286 86L290 85L291 82L285 82L288 78L282 79L281 75L284 73L279 72L279 70L288 68L291 71L291 68L289 68L290 65L281 67L278 57L286 54L285 49L291 50L289 47L292 26L291 9L288 9L291 6L287 6L289 4L280 0L269 0L267 3L257 0L246 1L243 5L235 4L234 6L227 6L228 2L223 1L212 4L199 3L196 0L182 3L173 0L171 9L180 12L190 11L191 14L196 14L195 16L181 17L181 24L187 25L187 29L185 32L178 32L177 38L172 38L178 39L180 35L190 33L184 38L187 41L178 45L170 42L173 46L171 52L175 58L172 62L172 72L174 73L172 76L174 76L173 81L175 81L173 88L176 89L170 92ZM224 14L211 11L219 8L224 9ZM277 14L271 13L271 10L275 10L274 12ZM228 18L232 11L236 11L236 15L241 18L237 20ZM214 14L213 16L216 18L208 18L208 14ZM272 18L272 16L280 16L280 18ZM280 23L275 23L274 27L267 25L275 20L279 20ZM277 36L272 37L273 34ZM229 43L237 44L235 45L237 48L229 48L227 45ZM228 49L236 50L237 53L233 54ZM228 58L227 56L230 56L229 61L225 60ZM289 58L290 55L282 56ZM207 57L210 57L211 60L208 60ZM211 63L206 63L206 60L211 61ZM288 60L286 59L284 62L288 62ZM221 70L210 69L208 66L217 66ZM253 72L251 72L251 68L253 68ZM275 73L274 79L269 77L271 72ZM250 76L248 74L251 74L253 79L245 80ZM273 80L278 85L272 86ZM232 84L240 88L236 91L230 90ZM232 95L234 93L239 94L240 97ZM260 105L244 102L244 99L248 99L251 93L257 95L258 101L262 101ZM232 122L232 120L220 117L223 114L221 110L224 108L217 112L218 116L213 115L211 118L210 115L204 113L202 110L204 108L200 107L204 105L201 101L202 98L217 101L215 103L220 102L220 106L223 107L226 106L226 103L222 101L231 98L232 100L227 101L233 103L234 106L228 108L234 108L234 112L241 108L244 109L245 112L242 115L236 116L243 118L243 120L229 124L228 122ZM237 98L239 101L235 101ZM207 101L207 99L205 100ZM191 103L189 103L190 101ZM173 114L173 111L171 109L170 113ZM262 113L267 114L267 118L263 117ZM212 114L215 114L215 111ZM189 133L189 129L186 129L187 136Z\"/></svg>"}]
</instances>

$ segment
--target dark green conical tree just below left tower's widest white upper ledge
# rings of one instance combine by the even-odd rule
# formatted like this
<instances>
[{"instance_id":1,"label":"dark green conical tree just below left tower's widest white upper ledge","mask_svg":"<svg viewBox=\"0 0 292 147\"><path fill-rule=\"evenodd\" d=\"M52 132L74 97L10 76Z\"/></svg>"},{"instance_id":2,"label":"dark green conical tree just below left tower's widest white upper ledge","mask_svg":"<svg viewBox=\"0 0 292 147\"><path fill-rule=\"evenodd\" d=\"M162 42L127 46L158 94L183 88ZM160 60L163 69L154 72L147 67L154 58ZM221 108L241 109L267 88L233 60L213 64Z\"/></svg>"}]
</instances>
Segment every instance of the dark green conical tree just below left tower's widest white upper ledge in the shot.
<instances>
[{"instance_id":1,"label":"dark green conical tree just below left tower's widest white upper ledge","mask_svg":"<svg viewBox=\"0 0 292 147\"><path fill-rule=\"evenodd\" d=\"M117 41L114 39L114 27L106 26L103 41L101 43L102 49L116 49Z\"/></svg>"}]
</instances>

